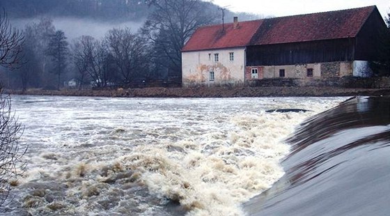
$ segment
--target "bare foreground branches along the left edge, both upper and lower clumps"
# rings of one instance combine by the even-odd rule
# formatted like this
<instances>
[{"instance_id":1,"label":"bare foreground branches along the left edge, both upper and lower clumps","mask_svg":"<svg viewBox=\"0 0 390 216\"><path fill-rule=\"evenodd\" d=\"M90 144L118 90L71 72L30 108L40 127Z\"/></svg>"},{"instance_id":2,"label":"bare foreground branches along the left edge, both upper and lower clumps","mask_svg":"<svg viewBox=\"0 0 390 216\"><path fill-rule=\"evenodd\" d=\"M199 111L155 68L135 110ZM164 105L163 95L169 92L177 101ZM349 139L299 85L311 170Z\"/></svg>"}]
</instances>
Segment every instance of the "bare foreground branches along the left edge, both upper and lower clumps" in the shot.
<instances>
[{"instance_id":1,"label":"bare foreground branches along the left edge, both upper and lower clumps","mask_svg":"<svg viewBox=\"0 0 390 216\"><path fill-rule=\"evenodd\" d=\"M13 29L6 12L0 15L0 66L15 68L20 63L23 36ZM0 206L10 192L10 185L22 175L25 164L21 161L26 149L20 148L19 139L23 130L11 112L10 96L3 97L0 84Z\"/></svg>"}]
</instances>

